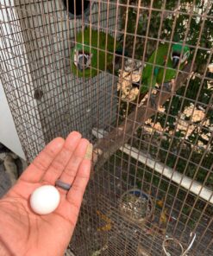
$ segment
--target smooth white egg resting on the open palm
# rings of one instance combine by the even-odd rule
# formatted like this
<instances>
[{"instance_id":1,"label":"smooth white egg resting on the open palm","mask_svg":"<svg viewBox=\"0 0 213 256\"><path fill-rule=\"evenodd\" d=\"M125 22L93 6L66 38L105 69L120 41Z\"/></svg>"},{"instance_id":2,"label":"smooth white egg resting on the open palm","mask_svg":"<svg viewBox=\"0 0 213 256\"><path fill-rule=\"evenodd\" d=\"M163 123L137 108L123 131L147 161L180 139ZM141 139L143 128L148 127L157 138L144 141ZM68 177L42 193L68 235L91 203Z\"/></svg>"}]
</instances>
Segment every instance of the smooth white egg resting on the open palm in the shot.
<instances>
[{"instance_id":1,"label":"smooth white egg resting on the open palm","mask_svg":"<svg viewBox=\"0 0 213 256\"><path fill-rule=\"evenodd\" d=\"M30 196L30 206L36 214L51 214L59 204L60 192L52 185L41 186Z\"/></svg>"}]
</instances>

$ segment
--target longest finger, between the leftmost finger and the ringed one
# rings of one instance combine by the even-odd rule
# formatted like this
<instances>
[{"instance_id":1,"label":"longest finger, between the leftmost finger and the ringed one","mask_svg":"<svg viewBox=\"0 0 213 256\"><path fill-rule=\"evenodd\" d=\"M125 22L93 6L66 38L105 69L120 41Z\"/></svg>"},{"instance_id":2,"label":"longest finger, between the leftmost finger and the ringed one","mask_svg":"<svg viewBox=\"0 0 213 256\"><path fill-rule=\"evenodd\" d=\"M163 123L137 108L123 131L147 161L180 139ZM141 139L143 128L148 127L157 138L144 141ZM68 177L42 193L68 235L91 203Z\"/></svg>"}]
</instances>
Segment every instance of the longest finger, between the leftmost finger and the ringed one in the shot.
<instances>
[{"instance_id":1,"label":"longest finger, between the leftmost finger and the ringed one","mask_svg":"<svg viewBox=\"0 0 213 256\"><path fill-rule=\"evenodd\" d=\"M64 147L60 150L60 153L53 160L47 172L42 178L42 182L48 184L55 184L55 181L60 177L62 171L66 168L66 164L69 162L72 154L76 150L79 142L81 141L81 134L77 131L72 131L66 138Z\"/></svg>"}]
</instances>

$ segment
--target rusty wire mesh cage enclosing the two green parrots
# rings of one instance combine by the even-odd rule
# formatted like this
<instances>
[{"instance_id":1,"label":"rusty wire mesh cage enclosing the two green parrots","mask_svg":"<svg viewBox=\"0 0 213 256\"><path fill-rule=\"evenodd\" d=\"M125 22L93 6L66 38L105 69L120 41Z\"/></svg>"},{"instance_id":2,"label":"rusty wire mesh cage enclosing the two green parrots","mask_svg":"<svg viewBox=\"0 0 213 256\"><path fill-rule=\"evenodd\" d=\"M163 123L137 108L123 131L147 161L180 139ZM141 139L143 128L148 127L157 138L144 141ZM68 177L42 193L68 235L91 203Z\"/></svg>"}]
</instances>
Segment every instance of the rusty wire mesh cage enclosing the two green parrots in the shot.
<instances>
[{"instance_id":1,"label":"rusty wire mesh cage enclosing the two green parrots","mask_svg":"<svg viewBox=\"0 0 213 256\"><path fill-rule=\"evenodd\" d=\"M1 80L28 163L72 130L95 145L75 255L213 255L212 5L0 1ZM174 69L178 43L190 56Z\"/></svg>"}]
</instances>

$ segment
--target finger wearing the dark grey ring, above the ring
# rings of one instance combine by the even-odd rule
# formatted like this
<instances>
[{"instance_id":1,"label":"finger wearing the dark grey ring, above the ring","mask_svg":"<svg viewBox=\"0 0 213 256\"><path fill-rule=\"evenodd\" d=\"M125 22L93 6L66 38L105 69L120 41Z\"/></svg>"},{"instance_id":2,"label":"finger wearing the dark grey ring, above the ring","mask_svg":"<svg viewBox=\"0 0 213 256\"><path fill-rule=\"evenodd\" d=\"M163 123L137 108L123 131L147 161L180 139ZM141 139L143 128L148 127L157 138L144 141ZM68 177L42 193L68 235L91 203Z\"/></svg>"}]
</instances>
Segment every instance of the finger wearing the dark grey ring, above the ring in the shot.
<instances>
[{"instance_id":1,"label":"finger wearing the dark grey ring, above the ring","mask_svg":"<svg viewBox=\"0 0 213 256\"><path fill-rule=\"evenodd\" d=\"M67 163L66 169L62 172L60 176L61 182L72 184L77 174L79 165L85 158L85 153L89 144L90 143L87 139L85 138L81 139L80 143L78 144L78 147L73 152L72 157L69 160L69 163Z\"/></svg>"}]
</instances>

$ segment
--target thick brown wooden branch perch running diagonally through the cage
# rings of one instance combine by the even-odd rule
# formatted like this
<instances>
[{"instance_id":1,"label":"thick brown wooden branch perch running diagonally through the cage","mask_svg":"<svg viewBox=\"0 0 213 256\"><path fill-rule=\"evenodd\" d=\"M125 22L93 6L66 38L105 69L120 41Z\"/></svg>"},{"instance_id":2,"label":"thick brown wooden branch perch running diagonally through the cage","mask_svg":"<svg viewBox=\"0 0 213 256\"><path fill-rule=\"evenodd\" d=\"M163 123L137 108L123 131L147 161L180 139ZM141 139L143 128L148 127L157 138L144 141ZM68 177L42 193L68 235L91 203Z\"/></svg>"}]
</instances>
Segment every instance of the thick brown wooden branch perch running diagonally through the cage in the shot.
<instances>
[{"instance_id":1,"label":"thick brown wooden branch perch running diagonally through the cage","mask_svg":"<svg viewBox=\"0 0 213 256\"><path fill-rule=\"evenodd\" d=\"M193 67L193 70L195 70L195 68L196 67ZM184 85L185 81L192 74L191 64L188 63L185 65L183 71L184 72L179 71L177 79L174 80L172 92L160 90L156 94L156 106L162 106L167 99L172 97L173 93L175 93L180 86ZM131 112L121 125L108 133L104 138L98 139L93 153L96 169L101 167L123 144L127 143L128 139L132 138L135 131L157 112L157 110L151 106L150 101L151 100L147 99L142 106L136 107L135 111Z\"/></svg>"}]
</instances>

